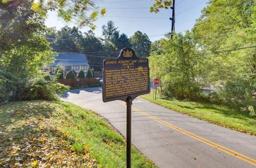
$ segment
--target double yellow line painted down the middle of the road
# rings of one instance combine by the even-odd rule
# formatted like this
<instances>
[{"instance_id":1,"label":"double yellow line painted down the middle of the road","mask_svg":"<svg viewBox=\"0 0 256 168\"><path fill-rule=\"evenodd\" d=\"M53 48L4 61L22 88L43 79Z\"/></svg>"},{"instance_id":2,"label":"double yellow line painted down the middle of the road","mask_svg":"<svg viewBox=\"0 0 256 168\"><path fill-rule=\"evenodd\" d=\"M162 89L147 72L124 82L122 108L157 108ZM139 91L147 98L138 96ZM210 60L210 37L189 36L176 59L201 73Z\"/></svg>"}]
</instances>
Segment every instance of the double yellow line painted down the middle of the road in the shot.
<instances>
[{"instance_id":1,"label":"double yellow line painted down the middle of the road","mask_svg":"<svg viewBox=\"0 0 256 168\"><path fill-rule=\"evenodd\" d=\"M126 106L126 104L123 103L123 102L120 102L120 104ZM208 139L205 139L205 138L203 138L203 137L201 137L201 136L198 136L198 135L196 135L196 134L194 134L194 133L188 132L188 131L186 131L186 130L184 130L184 129L182 129L182 128L179 128L179 127L177 127L177 126L175 126L175 125L173 125L173 124L167 123L167 122L165 122L165 121L163 121L163 120L161 120L161 119L158 119L158 118L156 118L156 117L154 117L154 116L151 116L151 115L145 113L144 111L141 111L141 110L139 110L139 109L137 109L137 108L135 108L135 107L132 107L132 109L133 109L134 111L137 111L138 113L140 113L140 114L142 114L142 115L148 117L148 118L151 118L152 120L155 120L155 121L157 121L157 122L159 122L159 123L161 123L161 124L167 126L167 127L173 128L173 129L175 129L176 131L179 131L179 132L181 132L181 133L183 133L183 134L185 134L185 135L187 135L187 136L193 137L193 138L197 139L198 141L200 141L200 142L202 142L202 143L205 143L205 144L207 144L207 145L209 145L209 146L212 146L212 147L214 147L214 148L216 148L216 149L219 149L219 150L221 150L221 151L223 151L223 152L225 152L225 153L228 153L228 154L230 154L230 155L232 155L232 156L234 156L234 157L237 157L237 158L239 158L239 159L241 159L241 160L244 160L244 161L246 161L246 162L248 162L248 163L250 163L250 164L252 164L252 165L256 165L256 163L255 163L256 160L254 160L254 159L252 159L252 158L250 158L250 157L248 157L248 156L245 156L245 155L240 154L240 153L238 153L238 152L232 151L231 149L228 149L228 148L223 147L223 146L221 146L221 145L219 145L219 144L216 144L216 143L214 143L214 142L211 142L211 141L209 141ZM244 158L243 158L243 157L244 157ZM245 158L246 158L246 159L245 159ZM253 161L253 162L252 162L252 161Z\"/></svg>"}]
</instances>

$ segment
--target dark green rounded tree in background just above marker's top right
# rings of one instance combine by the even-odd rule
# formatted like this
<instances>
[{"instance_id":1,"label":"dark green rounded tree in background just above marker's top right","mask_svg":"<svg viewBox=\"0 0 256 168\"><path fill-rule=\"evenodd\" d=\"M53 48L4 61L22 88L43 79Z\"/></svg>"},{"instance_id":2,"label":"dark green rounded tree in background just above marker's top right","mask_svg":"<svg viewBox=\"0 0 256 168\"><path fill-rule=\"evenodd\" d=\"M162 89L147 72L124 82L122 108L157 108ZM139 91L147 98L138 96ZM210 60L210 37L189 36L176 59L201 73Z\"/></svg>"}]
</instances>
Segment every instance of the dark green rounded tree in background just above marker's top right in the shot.
<instances>
[{"instance_id":1,"label":"dark green rounded tree in background just above marker's top right","mask_svg":"<svg viewBox=\"0 0 256 168\"><path fill-rule=\"evenodd\" d=\"M151 41L145 33L135 32L130 41L137 57L146 58L150 55Z\"/></svg>"}]
</instances>

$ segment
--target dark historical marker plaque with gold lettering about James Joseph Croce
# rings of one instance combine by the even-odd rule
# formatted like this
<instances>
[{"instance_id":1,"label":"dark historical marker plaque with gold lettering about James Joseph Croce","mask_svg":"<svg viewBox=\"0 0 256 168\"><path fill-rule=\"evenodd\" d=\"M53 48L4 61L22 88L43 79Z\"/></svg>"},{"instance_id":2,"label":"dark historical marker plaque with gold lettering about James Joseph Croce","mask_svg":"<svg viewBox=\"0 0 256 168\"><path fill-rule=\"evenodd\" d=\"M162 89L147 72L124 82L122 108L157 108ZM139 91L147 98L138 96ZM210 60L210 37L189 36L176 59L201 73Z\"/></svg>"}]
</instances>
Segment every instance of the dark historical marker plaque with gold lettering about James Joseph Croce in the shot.
<instances>
[{"instance_id":1,"label":"dark historical marker plaque with gold lettering about James Joseph Croce","mask_svg":"<svg viewBox=\"0 0 256 168\"><path fill-rule=\"evenodd\" d=\"M103 61L103 102L150 93L149 76L148 59L139 59L131 48L122 49L118 58Z\"/></svg>"}]
</instances>

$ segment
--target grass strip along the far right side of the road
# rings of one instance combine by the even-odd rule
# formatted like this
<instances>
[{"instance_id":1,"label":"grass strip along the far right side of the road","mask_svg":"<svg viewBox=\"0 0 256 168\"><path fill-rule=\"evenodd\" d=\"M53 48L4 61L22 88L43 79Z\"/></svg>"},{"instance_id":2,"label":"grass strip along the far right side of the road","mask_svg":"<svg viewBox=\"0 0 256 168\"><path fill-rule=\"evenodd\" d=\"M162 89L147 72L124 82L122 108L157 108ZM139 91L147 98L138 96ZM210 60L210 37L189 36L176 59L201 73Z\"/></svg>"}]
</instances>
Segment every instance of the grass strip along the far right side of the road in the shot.
<instances>
[{"instance_id":1,"label":"grass strip along the far right side of the road","mask_svg":"<svg viewBox=\"0 0 256 168\"><path fill-rule=\"evenodd\" d=\"M153 100L153 92L141 97L168 109L172 109L200 120L205 120L210 123L251 135L256 135L256 118L251 117L247 112L239 111L224 105L166 100L160 95L157 95L157 99Z\"/></svg>"}]
</instances>

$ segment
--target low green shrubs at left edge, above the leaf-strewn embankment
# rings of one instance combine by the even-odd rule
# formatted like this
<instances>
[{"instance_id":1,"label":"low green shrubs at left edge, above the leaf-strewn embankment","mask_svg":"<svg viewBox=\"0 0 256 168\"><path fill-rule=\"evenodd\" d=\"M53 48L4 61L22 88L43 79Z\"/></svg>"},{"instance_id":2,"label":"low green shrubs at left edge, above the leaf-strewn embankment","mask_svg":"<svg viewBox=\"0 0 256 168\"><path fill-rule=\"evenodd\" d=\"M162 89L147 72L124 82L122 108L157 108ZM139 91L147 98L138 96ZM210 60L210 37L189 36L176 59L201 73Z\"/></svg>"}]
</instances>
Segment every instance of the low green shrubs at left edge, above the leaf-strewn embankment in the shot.
<instances>
[{"instance_id":1,"label":"low green shrubs at left edge, above the leaf-strewn embankment","mask_svg":"<svg viewBox=\"0 0 256 168\"><path fill-rule=\"evenodd\" d=\"M54 100L57 94L69 88L55 80L46 81L43 74L19 78L10 72L0 70L0 103L16 100Z\"/></svg>"}]
</instances>

